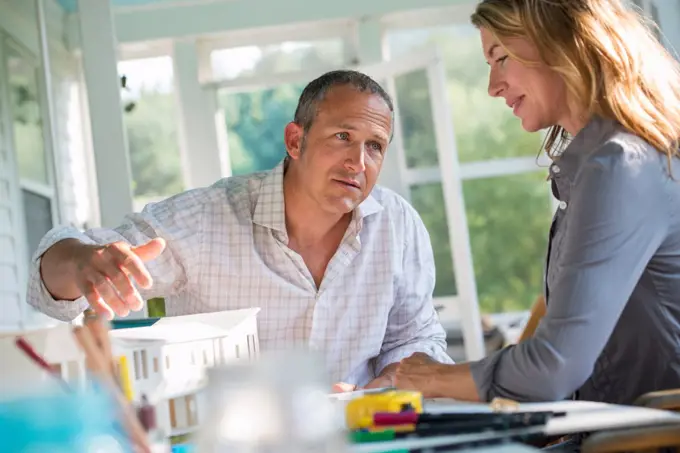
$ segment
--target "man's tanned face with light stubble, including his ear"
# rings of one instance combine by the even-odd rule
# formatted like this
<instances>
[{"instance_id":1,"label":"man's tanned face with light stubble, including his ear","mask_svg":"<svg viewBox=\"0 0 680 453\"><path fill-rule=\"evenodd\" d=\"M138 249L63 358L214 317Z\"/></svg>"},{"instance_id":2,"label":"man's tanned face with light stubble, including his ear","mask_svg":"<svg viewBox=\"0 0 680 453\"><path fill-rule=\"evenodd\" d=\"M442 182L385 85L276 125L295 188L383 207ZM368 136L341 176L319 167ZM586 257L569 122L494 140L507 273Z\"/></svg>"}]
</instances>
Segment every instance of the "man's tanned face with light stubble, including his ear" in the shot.
<instances>
[{"instance_id":1,"label":"man's tanned face with light stubble, including his ear","mask_svg":"<svg viewBox=\"0 0 680 453\"><path fill-rule=\"evenodd\" d=\"M306 135L286 126L298 187L326 212L351 212L373 190L391 132L392 113L379 95L331 88Z\"/></svg>"}]
</instances>

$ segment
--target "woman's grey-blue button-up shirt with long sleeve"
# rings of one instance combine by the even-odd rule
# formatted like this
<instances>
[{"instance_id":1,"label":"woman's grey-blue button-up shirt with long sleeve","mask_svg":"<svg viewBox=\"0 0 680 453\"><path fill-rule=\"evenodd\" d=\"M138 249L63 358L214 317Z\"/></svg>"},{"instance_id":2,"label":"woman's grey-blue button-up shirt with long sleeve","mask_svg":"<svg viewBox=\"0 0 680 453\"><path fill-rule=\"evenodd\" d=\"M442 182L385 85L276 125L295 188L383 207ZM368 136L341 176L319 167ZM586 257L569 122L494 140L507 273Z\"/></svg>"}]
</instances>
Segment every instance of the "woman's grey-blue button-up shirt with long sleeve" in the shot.
<instances>
[{"instance_id":1,"label":"woman's grey-blue button-up shirt with long sleeve","mask_svg":"<svg viewBox=\"0 0 680 453\"><path fill-rule=\"evenodd\" d=\"M629 404L680 387L680 159L671 171L602 118L554 161L548 310L533 338L471 363L482 399Z\"/></svg>"}]
</instances>

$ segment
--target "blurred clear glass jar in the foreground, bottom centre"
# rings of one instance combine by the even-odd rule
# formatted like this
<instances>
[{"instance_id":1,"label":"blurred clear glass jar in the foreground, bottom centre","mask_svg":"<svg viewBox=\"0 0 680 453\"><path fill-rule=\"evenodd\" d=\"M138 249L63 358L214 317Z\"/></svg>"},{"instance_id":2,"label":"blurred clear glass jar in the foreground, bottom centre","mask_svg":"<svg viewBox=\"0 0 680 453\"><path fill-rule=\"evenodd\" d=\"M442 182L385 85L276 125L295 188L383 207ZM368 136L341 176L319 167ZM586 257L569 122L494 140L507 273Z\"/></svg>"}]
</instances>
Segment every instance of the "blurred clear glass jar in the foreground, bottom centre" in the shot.
<instances>
[{"instance_id":1,"label":"blurred clear glass jar in the foreground, bottom centre","mask_svg":"<svg viewBox=\"0 0 680 453\"><path fill-rule=\"evenodd\" d=\"M325 369L311 352L279 352L209 370L198 451L347 452Z\"/></svg>"}]
</instances>

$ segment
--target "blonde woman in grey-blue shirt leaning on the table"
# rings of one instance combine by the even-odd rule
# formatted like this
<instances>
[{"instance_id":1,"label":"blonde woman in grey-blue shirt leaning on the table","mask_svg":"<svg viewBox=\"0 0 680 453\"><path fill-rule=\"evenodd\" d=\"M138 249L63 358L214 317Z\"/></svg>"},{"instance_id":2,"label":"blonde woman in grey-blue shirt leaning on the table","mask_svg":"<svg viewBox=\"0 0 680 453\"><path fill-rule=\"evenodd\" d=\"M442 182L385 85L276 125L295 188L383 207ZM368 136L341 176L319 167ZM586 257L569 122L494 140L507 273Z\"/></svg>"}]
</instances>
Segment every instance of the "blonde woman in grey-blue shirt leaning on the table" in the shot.
<instances>
[{"instance_id":1,"label":"blonde woman in grey-blue shirt leaning on the table","mask_svg":"<svg viewBox=\"0 0 680 453\"><path fill-rule=\"evenodd\" d=\"M619 0L484 0L472 22L489 94L527 131L550 128L547 312L532 338L481 361L406 359L396 385L622 404L680 387L678 63Z\"/></svg>"}]
</instances>

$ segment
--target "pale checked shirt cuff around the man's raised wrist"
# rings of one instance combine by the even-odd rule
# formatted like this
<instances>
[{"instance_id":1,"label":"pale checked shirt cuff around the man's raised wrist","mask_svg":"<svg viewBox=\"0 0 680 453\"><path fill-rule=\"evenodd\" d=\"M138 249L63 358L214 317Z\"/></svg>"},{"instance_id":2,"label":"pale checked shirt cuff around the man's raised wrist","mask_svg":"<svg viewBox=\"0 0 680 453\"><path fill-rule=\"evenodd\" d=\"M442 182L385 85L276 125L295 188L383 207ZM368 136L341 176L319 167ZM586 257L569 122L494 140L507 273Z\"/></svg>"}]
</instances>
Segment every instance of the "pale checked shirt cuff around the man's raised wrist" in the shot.
<instances>
[{"instance_id":1,"label":"pale checked shirt cuff around the man's raised wrist","mask_svg":"<svg viewBox=\"0 0 680 453\"><path fill-rule=\"evenodd\" d=\"M96 242L73 227L55 228L48 232L40 241L38 249L33 254L30 264L29 287L27 293L28 304L42 313L59 321L73 321L87 307L88 303L84 297L76 300L58 300L52 297L45 286L45 282L40 274L40 263L42 255L54 244L64 239L78 239L86 244Z\"/></svg>"}]
</instances>

